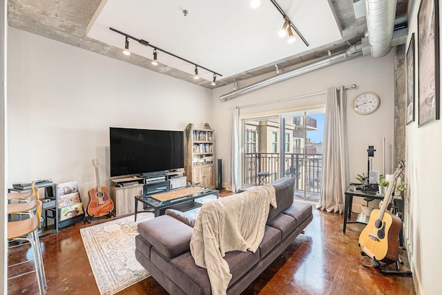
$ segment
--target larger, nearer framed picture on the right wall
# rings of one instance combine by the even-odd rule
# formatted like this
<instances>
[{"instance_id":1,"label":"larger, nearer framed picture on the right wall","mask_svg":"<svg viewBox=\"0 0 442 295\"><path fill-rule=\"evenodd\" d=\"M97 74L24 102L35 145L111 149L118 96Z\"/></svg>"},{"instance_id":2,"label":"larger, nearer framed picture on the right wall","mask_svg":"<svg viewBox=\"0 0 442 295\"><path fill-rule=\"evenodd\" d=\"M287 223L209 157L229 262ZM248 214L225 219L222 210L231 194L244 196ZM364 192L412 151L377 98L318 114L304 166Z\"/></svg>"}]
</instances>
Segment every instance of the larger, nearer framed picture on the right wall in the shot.
<instances>
[{"instance_id":1,"label":"larger, nearer framed picture on the right wall","mask_svg":"<svg viewBox=\"0 0 442 295\"><path fill-rule=\"evenodd\" d=\"M439 1L422 0L418 13L419 127L439 120Z\"/></svg>"}]
</instances>

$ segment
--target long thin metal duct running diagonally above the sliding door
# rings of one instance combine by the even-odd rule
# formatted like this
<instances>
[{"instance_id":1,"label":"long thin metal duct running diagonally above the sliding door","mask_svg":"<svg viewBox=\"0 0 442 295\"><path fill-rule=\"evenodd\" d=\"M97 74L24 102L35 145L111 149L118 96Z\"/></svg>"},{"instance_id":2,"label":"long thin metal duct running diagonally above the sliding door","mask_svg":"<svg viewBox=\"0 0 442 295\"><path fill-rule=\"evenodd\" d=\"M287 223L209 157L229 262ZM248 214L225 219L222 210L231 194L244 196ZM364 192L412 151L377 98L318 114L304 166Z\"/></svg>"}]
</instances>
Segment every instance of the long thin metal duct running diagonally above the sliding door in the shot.
<instances>
[{"instance_id":1,"label":"long thin metal duct running diagonally above the sliding door","mask_svg":"<svg viewBox=\"0 0 442 295\"><path fill-rule=\"evenodd\" d=\"M268 79L262 80L260 82L256 82L254 84L251 84L249 86L245 86L244 88L238 89L236 91L232 91L231 93L226 93L220 96L220 100L225 101L228 99L232 99L233 97L237 97L239 95L243 95L246 93L249 93L251 91L256 91L262 87L269 86L271 84L275 84L278 82L285 81L287 79L290 79L292 77L296 77L298 75L302 75L305 73L309 73L312 70L316 70L318 68L323 68L325 66L330 66L332 64L337 64L340 61L345 61L346 59L356 57L361 53L362 50L362 44L361 42L358 42L357 44L354 44L350 46L344 53L339 53L337 55L333 55L331 57L328 57L327 59L323 59L320 61L316 61L313 64L308 64L307 66L302 66L301 68L296 68L294 70L290 70L289 72L276 75L274 77L270 77Z\"/></svg>"}]
</instances>

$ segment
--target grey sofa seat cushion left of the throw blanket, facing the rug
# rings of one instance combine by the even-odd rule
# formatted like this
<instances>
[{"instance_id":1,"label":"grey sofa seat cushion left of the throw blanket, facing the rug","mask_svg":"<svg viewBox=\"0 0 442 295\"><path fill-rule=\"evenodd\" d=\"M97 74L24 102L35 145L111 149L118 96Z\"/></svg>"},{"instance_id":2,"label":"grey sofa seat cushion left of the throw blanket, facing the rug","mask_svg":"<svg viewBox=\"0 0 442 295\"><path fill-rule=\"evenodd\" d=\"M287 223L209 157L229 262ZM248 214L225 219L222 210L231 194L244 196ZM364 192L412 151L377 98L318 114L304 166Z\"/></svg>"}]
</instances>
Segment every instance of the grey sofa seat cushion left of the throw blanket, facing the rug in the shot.
<instances>
[{"instance_id":1,"label":"grey sofa seat cushion left of the throw blanket, facing the rug","mask_svg":"<svg viewBox=\"0 0 442 295\"><path fill-rule=\"evenodd\" d=\"M193 229L169 215L142 221L138 233L164 256L173 258L190 251Z\"/></svg>"}]
</instances>

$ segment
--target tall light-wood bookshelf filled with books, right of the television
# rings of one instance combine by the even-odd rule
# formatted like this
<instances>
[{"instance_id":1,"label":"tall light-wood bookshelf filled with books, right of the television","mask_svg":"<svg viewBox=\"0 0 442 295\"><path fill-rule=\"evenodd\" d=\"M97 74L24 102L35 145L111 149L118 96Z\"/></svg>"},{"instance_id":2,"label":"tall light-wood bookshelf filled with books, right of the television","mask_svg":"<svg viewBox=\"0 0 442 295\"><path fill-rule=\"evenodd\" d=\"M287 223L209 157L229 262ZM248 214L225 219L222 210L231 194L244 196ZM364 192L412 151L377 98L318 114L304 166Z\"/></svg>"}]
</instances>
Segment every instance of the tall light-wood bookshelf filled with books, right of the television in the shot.
<instances>
[{"instance_id":1,"label":"tall light-wood bookshelf filled with books, right of the television","mask_svg":"<svg viewBox=\"0 0 442 295\"><path fill-rule=\"evenodd\" d=\"M184 132L184 170L187 181L214 189L215 142L213 129L191 129L189 137Z\"/></svg>"}]
</instances>

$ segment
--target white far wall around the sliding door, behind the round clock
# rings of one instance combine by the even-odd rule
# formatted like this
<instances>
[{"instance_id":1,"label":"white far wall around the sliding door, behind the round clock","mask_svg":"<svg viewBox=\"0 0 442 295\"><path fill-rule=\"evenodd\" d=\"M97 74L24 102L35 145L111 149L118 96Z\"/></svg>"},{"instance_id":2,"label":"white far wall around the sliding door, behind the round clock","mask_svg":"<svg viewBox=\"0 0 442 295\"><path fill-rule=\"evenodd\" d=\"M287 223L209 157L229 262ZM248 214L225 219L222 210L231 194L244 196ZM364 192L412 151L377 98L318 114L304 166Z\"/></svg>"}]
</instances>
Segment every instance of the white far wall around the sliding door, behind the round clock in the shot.
<instances>
[{"instance_id":1,"label":"white far wall around the sliding door, behind the round clock","mask_svg":"<svg viewBox=\"0 0 442 295\"><path fill-rule=\"evenodd\" d=\"M334 66L288 79L272 86L261 88L227 102L220 102L218 97L233 91L232 86L224 86L213 91L213 126L216 129L217 158L223 159L223 182L227 182L227 161L229 158L229 132L231 129L231 107L244 106L258 102L266 102L287 97L295 97L309 93L326 91L330 86L349 86L356 84L358 88L347 90L347 134L349 142L349 176L356 181L356 174L367 171L367 148L374 145L376 149L373 169L383 169L382 143L385 137L387 145L387 173L391 173L392 144L394 142L394 50L386 57L375 59L371 56L356 57ZM260 79L240 82L244 87ZM354 97L364 91L377 93L381 105L371 115L358 115L352 110ZM278 110L293 111L309 105L325 104L326 95L307 97L278 104L267 104L256 108L241 109L240 114L256 115L277 113ZM223 185L225 187L225 184ZM358 200L355 199L355 204Z\"/></svg>"}]
</instances>

